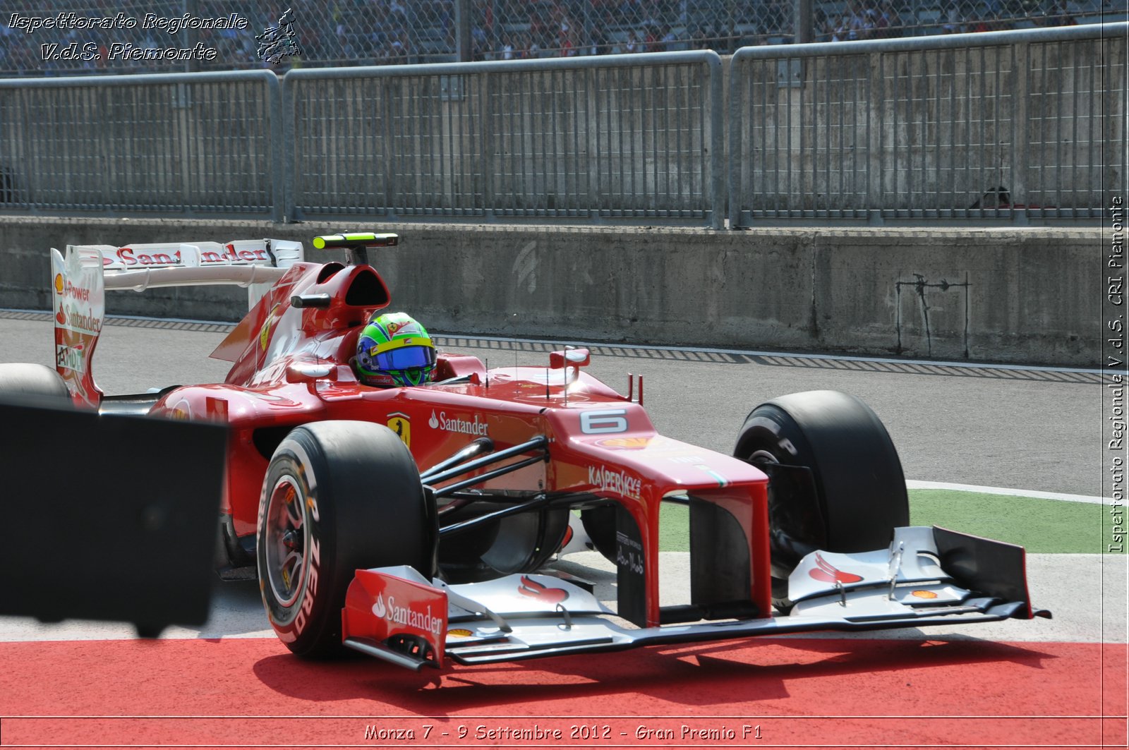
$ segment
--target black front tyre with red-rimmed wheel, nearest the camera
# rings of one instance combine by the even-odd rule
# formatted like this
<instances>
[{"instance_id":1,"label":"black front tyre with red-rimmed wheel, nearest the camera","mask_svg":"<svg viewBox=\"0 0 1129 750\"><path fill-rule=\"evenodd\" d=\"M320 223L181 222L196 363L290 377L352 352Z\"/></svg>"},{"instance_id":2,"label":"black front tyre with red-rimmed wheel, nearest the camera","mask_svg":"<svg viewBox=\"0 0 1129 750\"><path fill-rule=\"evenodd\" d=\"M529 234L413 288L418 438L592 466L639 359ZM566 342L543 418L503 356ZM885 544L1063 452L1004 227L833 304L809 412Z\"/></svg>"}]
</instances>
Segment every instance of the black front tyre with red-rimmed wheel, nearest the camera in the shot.
<instances>
[{"instance_id":1,"label":"black front tyre with red-rimmed wheel, nearest the camera","mask_svg":"<svg viewBox=\"0 0 1129 750\"><path fill-rule=\"evenodd\" d=\"M290 651L342 652L341 608L358 568L434 574L426 502L411 453L383 425L313 422L287 435L263 482L256 557L266 617Z\"/></svg>"}]
</instances>

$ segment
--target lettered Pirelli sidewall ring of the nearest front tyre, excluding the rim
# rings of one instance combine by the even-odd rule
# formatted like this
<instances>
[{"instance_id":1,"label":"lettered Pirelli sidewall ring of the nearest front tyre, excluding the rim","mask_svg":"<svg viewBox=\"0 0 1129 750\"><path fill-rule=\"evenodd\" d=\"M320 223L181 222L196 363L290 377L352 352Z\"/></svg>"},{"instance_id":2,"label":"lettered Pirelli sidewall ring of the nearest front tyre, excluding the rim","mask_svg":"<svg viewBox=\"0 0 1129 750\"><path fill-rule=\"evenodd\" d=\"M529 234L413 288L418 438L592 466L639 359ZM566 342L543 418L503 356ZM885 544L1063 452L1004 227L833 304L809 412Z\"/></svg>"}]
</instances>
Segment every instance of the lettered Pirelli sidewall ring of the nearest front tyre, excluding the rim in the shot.
<instances>
[{"instance_id":1,"label":"lettered Pirelli sidewall ring of the nearest front tyre, excluding the rim","mask_svg":"<svg viewBox=\"0 0 1129 750\"><path fill-rule=\"evenodd\" d=\"M256 543L256 561L260 572L260 587L263 594L263 607L274 633L290 651L307 654L314 651L314 645L325 635L330 618L340 619L340 607L332 612L330 600L342 601L343 587L339 596L330 592L334 587L333 557L335 539L333 516L335 508L330 503L323 503L321 495L329 487L329 466L325 465L321 451L312 446L310 436L303 429L291 433L274 451L270 470L263 482L263 491L259 503L259 538ZM306 562L303 581L292 603L279 599L271 581L270 564L266 560L268 543L264 541L265 516L272 494L280 482L292 482L303 498L303 525L305 526ZM329 568L326 569L326 564ZM340 575L338 577L341 577Z\"/></svg>"}]
</instances>

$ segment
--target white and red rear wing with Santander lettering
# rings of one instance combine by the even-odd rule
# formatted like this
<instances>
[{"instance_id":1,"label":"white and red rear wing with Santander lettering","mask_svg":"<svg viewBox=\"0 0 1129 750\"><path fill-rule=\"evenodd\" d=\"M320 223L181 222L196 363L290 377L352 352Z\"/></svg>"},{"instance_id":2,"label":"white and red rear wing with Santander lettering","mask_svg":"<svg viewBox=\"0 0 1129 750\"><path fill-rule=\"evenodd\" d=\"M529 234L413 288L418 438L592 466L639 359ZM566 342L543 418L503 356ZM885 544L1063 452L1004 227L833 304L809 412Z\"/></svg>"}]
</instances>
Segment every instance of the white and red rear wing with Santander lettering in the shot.
<instances>
[{"instance_id":1,"label":"white and red rear wing with Santander lettering","mask_svg":"<svg viewBox=\"0 0 1129 750\"><path fill-rule=\"evenodd\" d=\"M235 239L51 248L55 369L78 404L97 408L102 391L90 369L105 319L105 291L237 284L251 308L303 259L300 242Z\"/></svg>"}]
</instances>

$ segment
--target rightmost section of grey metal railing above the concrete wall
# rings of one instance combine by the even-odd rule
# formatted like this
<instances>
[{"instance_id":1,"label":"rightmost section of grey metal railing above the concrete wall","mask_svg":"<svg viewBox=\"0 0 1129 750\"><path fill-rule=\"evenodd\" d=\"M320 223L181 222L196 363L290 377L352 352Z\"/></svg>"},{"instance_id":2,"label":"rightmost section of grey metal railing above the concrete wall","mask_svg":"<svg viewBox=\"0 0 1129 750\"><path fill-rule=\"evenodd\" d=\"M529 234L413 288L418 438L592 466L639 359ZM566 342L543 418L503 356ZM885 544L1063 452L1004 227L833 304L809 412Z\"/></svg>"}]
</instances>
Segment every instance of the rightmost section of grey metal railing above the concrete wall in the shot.
<instances>
[{"instance_id":1,"label":"rightmost section of grey metal railing above the concrete wall","mask_svg":"<svg viewBox=\"0 0 1129 750\"><path fill-rule=\"evenodd\" d=\"M729 223L1096 218L1123 184L1129 24L746 47Z\"/></svg>"}]
</instances>

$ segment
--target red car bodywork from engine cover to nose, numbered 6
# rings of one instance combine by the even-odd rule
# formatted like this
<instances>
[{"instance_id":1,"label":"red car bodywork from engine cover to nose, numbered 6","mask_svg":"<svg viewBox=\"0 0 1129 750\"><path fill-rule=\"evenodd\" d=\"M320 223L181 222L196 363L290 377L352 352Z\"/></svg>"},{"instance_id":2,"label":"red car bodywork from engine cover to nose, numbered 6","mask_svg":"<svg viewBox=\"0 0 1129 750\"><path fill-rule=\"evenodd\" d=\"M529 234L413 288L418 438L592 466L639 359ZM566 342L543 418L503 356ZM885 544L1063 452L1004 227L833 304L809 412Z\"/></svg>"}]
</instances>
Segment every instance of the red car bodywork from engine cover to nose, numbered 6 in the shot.
<instances>
[{"instance_id":1,"label":"red car bodywork from engine cover to nose, numbered 6","mask_svg":"<svg viewBox=\"0 0 1129 750\"><path fill-rule=\"evenodd\" d=\"M294 306L326 294L329 306ZM215 419L230 427L224 512L238 535L254 534L271 452L289 428L327 419L395 430L427 469L478 437L500 448L536 436L550 460L485 482L488 489L577 491L613 498L642 538L646 626L659 625L658 509L692 492L727 509L750 540L749 595L771 611L767 477L736 459L656 434L642 407L579 367L507 367L440 352L436 383L405 389L360 384L350 358L369 316L390 303L368 265L297 263L216 349L234 363L224 384L180 387L151 413ZM469 376L456 383L441 381Z\"/></svg>"}]
</instances>

